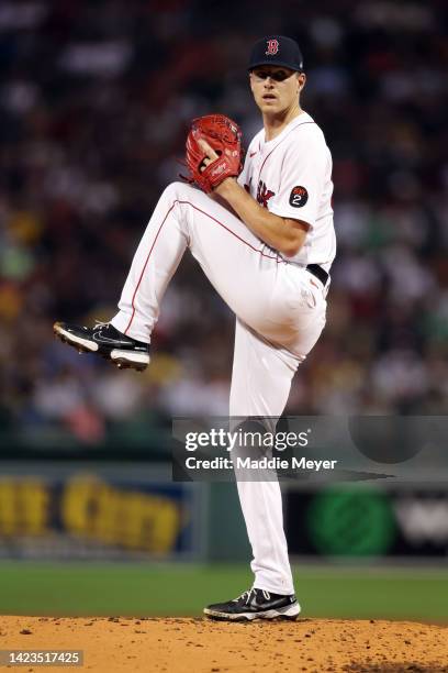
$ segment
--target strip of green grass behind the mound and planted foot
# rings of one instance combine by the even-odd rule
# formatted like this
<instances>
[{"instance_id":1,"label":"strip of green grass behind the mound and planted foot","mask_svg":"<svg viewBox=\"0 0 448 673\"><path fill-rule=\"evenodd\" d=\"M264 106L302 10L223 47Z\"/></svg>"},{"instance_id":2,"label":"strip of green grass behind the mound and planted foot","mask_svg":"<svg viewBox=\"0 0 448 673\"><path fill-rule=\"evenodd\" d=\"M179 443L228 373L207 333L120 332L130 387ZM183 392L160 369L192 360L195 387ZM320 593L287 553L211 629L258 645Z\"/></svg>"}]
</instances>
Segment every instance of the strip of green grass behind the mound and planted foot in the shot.
<instances>
[{"instance_id":1,"label":"strip of green grass behind the mound and planted foot","mask_svg":"<svg viewBox=\"0 0 448 673\"><path fill-rule=\"evenodd\" d=\"M295 566L305 617L448 621L448 571ZM251 582L243 565L0 563L0 614L195 616Z\"/></svg>"}]
</instances>

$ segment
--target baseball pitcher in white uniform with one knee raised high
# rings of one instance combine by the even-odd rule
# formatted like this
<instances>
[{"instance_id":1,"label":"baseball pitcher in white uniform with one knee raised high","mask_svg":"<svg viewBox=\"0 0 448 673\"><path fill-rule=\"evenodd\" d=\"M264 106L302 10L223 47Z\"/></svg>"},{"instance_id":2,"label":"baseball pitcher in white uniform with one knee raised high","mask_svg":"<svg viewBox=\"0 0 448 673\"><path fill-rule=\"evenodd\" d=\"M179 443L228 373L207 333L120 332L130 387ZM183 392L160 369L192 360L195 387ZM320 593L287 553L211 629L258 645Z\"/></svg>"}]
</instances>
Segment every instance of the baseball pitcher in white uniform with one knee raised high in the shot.
<instances>
[{"instance_id":1,"label":"baseball pitcher in white uniform with one knee raised high","mask_svg":"<svg viewBox=\"0 0 448 673\"><path fill-rule=\"evenodd\" d=\"M292 377L325 324L336 243L332 156L315 121L302 110L305 85L299 45L283 35L257 42L249 85L262 129L242 165L235 122L211 114L193 121L187 140L190 184L161 195L135 253L119 312L109 323L55 323L80 351L119 367L144 369L165 290L190 249L236 317L229 413L279 418ZM197 186L193 186L195 184ZM250 540L253 587L210 605L228 620L295 619L278 481L237 481Z\"/></svg>"}]
</instances>

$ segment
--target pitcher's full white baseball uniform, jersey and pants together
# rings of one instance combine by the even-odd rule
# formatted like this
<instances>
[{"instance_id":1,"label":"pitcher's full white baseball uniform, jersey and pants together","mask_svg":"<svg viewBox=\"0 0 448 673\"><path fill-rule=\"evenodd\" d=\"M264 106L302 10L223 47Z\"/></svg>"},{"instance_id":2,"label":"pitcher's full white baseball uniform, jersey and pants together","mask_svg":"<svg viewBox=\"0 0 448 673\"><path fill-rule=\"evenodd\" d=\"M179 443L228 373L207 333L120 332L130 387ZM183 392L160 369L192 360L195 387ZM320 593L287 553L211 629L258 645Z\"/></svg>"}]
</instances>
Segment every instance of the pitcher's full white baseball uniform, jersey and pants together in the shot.
<instances>
[{"instance_id":1,"label":"pitcher's full white baseball uniform, jersey and pants together","mask_svg":"<svg viewBox=\"0 0 448 673\"><path fill-rule=\"evenodd\" d=\"M322 131L305 112L273 140L261 130L238 178L271 212L310 224L295 257L260 241L202 191L173 183L161 195L135 253L112 324L149 342L168 283L190 249L236 316L231 416L278 418L299 364L325 324L326 287L306 271L326 272L335 256L332 158ZM280 486L238 482L250 540L254 586L292 594Z\"/></svg>"}]
</instances>

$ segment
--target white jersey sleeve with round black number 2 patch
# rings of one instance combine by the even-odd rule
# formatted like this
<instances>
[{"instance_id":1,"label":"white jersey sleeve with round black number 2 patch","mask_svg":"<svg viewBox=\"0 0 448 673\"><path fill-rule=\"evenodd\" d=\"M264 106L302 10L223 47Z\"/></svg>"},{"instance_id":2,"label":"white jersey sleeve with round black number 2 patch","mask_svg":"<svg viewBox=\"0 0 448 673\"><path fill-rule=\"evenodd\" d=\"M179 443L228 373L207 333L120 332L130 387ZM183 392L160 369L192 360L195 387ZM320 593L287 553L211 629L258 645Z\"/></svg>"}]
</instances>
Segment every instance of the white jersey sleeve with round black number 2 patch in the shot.
<instances>
[{"instance_id":1,"label":"white jersey sleeve with round black number 2 patch","mask_svg":"<svg viewBox=\"0 0 448 673\"><path fill-rule=\"evenodd\" d=\"M280 187L269 210L282 218L302 220L314 227L327 172L328 150L323 137L310 134L294 139L284 153Z\"/></svg>"}]
</instances>

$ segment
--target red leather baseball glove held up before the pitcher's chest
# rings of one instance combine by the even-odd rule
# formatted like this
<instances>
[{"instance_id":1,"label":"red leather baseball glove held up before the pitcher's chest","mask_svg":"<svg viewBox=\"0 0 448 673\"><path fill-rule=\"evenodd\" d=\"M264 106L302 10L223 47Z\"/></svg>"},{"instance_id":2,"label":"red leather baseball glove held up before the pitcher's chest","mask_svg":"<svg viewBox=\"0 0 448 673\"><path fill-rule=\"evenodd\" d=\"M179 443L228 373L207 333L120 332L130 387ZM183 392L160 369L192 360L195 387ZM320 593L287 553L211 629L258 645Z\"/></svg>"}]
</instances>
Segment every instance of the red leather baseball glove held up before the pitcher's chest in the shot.
<instances>
[{"instance_id":1,"label":"red leather baseball glove held up before the pitcher's chest","mask_svg":"<svg viewBox=\"0 0 448 673\"><path fill-rule=\"evenodd\" d=\"M210 158L201 147L200 141L205 141L217 154ZM206 114L193 119L187 136L186 161L190 169L190 183L195 183L206 194L210 194L225 178L238 176L242 163L242 132L232 119L224 114Z\"/></svg>"}]
</instances>

